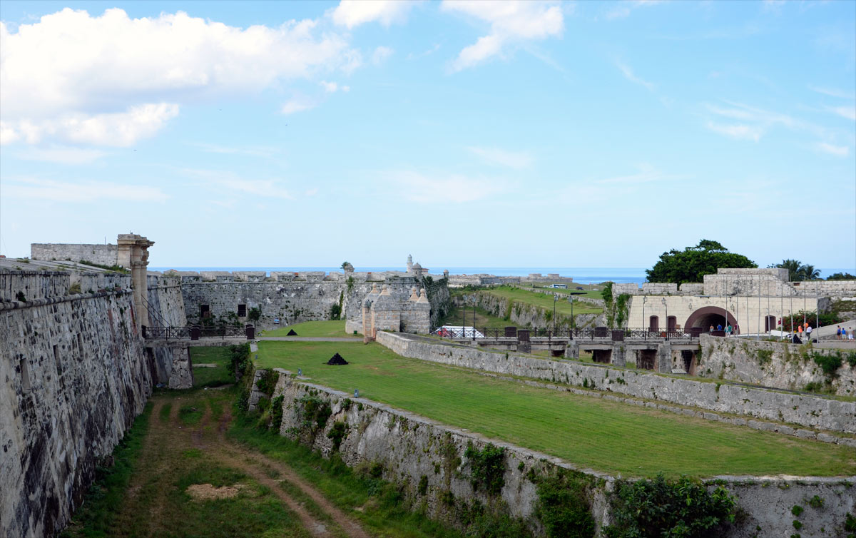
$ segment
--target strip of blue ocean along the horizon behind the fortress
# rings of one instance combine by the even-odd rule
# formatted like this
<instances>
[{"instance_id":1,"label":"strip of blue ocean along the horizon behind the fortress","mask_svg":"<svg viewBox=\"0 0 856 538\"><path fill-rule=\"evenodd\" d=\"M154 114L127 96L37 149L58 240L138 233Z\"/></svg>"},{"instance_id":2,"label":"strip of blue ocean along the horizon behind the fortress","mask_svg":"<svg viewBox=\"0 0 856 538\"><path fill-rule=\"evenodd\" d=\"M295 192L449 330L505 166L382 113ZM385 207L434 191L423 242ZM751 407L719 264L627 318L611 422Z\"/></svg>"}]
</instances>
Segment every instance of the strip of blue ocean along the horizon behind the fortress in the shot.
<instances>
[{"instance_id":1,"label":"strip of blue ocean along the horizon behind the fortress","mask_svg":"<svg viewBox=\"0 0 856 538\"><path fill-rule=\"evenodd\" d=\"M439 266L438 266L439 267ZM149 271L271 271L300 272L300 271L324 271L341 272L341 267L149 267ZM449 269L451 274L491 274L502 277L526 277L532 272L540 272L546 276L550 272L558 273L562 277L574 278L574 282L580 284L597 284L611 280L618 283L645 282L645 269L639 267L455 267L444 266L442 269L431 268L431 274L439 274L443 269ZM405 267L357 267L357 271L380 272L380 271L404 271Z\"/></svg>"}]
</instances>

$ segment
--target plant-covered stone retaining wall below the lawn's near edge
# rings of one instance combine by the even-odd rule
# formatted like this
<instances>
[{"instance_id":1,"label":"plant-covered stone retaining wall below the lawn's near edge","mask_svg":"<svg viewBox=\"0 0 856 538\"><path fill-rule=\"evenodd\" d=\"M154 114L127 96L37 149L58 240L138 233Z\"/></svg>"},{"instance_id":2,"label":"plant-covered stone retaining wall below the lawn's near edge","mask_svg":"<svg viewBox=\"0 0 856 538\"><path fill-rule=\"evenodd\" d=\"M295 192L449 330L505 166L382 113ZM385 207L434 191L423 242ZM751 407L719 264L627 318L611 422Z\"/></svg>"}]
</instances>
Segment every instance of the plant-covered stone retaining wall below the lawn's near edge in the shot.
<instances>
[{"instance_id":1,"label":"plant-covered stone retaining wall below the lawn's near edge","mask_svg":"<svg viewBox=\"0 0 856 538\"><path fill-rule=\"evenodd\" d=\"M578 469L559 458L485 439L478 433L464 432L382 403L349 398L344 392L301 382L286 370L277 371L280 377L273 396L284 397L282 435L312 446L326 457L338 452L342 461L351 467L379 464L383 478L398 483L407 498L424 503L425 510L432 517L455 523L454 509L443 500L449 499L451 493L455 504L478 500L489 510L505 510L511 516L528 519L531 529L536 534L543 534L544 528L533 517L537 487L527 475L532 472L541 475L562 468L591 477L589 500L597 529L611 522L609 493L615 487L613 476L591 469ZM259 372L256 380L258 378ZM253 393L258 400L258 391ZM326 400L332 410L325 426L314 432L304 426L300 415L300 399L311 396ZM328 437L336 422L345 425L345 437L338 449ZM472 469L465 454L467 445L471 443L476 450L483 450L489 443L505 449L504 485L498 498L491 498L484 488L473 489L470 481ZM803 525L801 535L843 536L846 515L853 511L856 502L856 478L853 477L716 478L737 497L743 511L740 523L726 529L723 538L781 538L791 535L794 532L794 516L791 514L794 505L805 508L799 517ZM418 487L422 480L427 483L424 493L420 493ZM816 495L823 504L820 508L813 508L808 503Z\"/></svg>"}]
</instances>

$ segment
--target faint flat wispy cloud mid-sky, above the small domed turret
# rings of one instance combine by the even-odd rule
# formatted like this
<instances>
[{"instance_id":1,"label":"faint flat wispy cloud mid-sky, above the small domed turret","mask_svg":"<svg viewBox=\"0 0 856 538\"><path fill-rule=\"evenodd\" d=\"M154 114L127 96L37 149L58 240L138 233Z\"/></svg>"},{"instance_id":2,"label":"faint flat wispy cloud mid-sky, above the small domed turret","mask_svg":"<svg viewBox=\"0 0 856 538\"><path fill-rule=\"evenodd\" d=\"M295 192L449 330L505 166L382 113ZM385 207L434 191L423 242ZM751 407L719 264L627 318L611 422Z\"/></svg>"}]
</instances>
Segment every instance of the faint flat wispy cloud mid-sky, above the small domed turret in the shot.
<instances>
[{"instance_id":1,"label":"faint flat wispy cloud mid-sky, above the small domed turret","mask_svg":"<svg viewBox=\"0 0 856 538\"><path fill-rule=\"evenodd\" d=\"M392 192L407 201L419 203L463 203L482 200L504 190L502 182L494 179L477 179L461 174L425 176L414 171L386 174Z\"/></svg>"}]
</instances>

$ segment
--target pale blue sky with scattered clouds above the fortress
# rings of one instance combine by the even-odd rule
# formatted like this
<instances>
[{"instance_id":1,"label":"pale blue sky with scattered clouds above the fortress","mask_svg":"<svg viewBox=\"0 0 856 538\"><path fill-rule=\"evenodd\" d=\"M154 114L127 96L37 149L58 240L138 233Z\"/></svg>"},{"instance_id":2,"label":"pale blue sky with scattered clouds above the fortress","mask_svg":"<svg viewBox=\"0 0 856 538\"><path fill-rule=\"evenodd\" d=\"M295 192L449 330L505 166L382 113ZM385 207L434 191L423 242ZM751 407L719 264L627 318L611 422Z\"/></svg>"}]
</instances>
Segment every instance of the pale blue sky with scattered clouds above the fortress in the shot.
<instances>
[{"instance_id":1,"label":"pale blue sky with scattered clouds above the fortress","mask_svg":"<svg viewBox=\"0 0 856 538\"><path fill-rule=\"evenodd\" d=\"M0 10L3 254L856 267L854 2Z\"/></svg>"}]
</instances>

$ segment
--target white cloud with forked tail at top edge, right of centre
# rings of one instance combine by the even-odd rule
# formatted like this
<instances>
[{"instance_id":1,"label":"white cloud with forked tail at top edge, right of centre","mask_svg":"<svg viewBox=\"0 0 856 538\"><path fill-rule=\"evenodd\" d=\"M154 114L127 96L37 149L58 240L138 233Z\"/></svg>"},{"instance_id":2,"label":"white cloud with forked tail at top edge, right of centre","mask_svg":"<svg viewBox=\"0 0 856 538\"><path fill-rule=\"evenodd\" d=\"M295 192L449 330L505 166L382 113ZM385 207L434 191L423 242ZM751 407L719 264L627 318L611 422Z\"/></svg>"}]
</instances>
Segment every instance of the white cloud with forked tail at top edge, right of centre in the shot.
<instances>
[{"instance_id":1,"label":"white cloud with forked tail at top edge, right of centre","mask_svg":"<svg viewBox=\"0 0 856 538\"><path fill-rule=\"evenodd\" d=\"M523 0L443 0L441 9L490 23L490 33L465 47L451 68L461 71L500 54L508 44L562 35L562 7L554 2Z\"/></svg>"}]
</instances>

